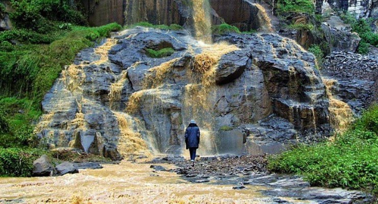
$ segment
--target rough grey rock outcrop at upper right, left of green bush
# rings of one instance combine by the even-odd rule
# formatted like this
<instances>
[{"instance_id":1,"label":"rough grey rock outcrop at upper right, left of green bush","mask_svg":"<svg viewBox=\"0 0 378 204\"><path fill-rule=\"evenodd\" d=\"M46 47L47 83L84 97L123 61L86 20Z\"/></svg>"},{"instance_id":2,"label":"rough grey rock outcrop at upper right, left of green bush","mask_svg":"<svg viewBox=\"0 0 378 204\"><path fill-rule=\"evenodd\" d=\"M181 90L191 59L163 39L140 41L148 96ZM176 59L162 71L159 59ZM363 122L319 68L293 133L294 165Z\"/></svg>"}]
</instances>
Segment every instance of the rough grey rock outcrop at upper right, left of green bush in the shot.
<instances>
[{"instance_id":1,"label":"rough grey rock outcrop at upper right, left of green bush","mask_svg":"<svg viewBox=\"0 0 378 204\"><path fill-rule=\"evenodd\" d=\"M338 16L331 16L321 27L330 45L330 52L356 52L361 38L357 33L351 33L350 25Z\"/></svg>"}]
</instances>

